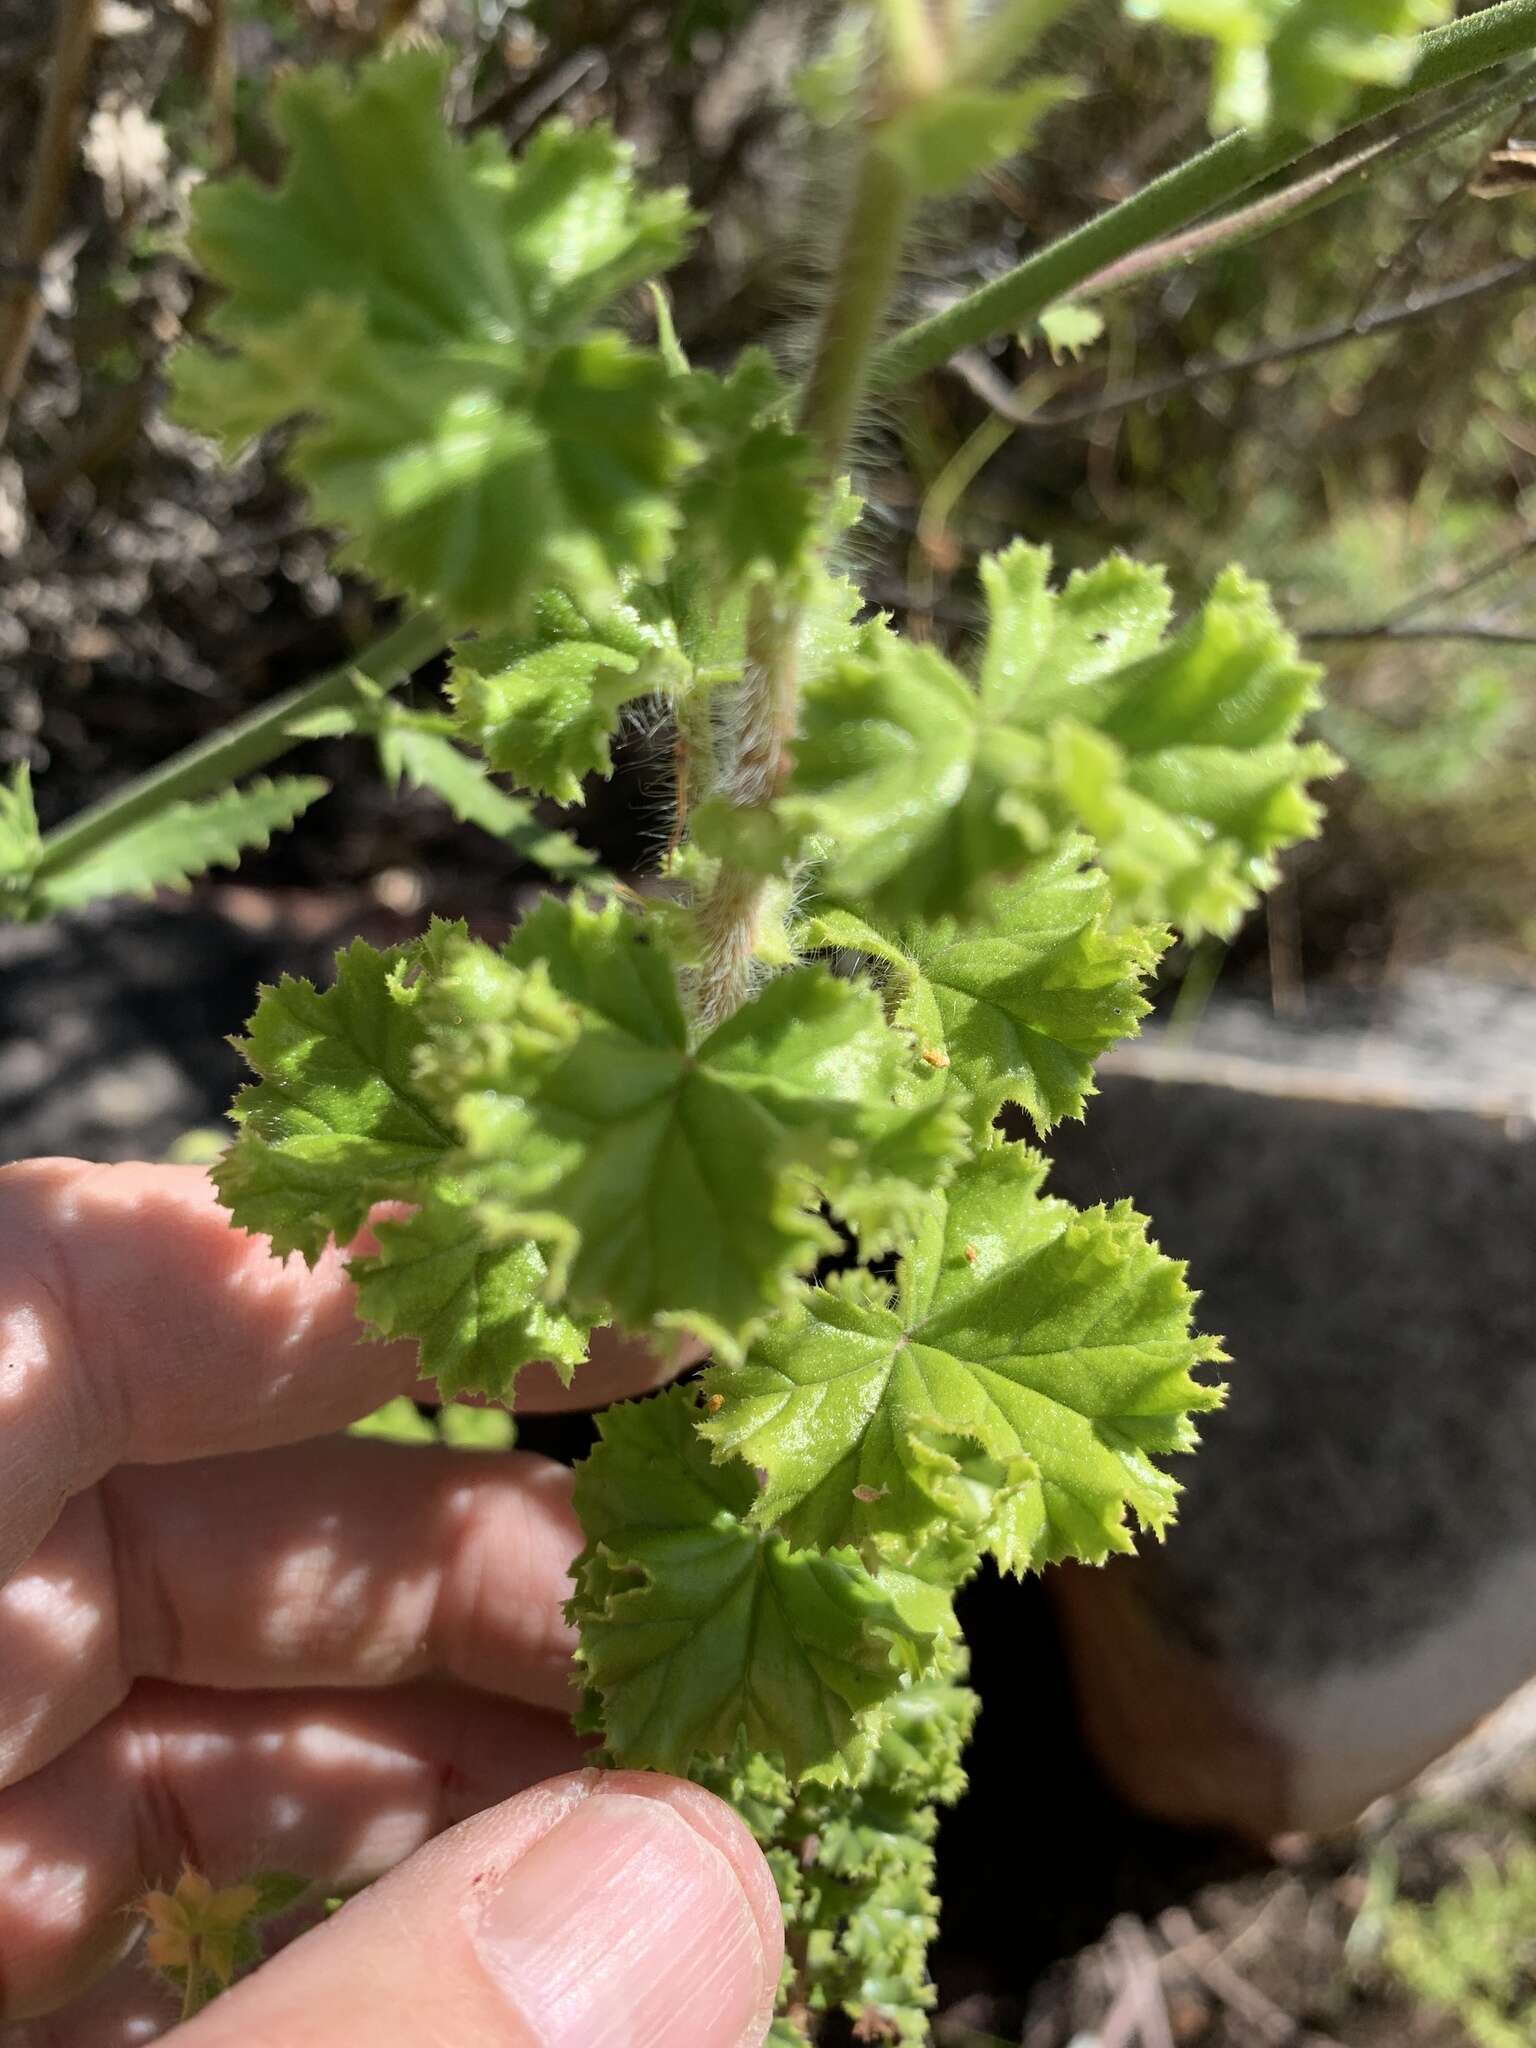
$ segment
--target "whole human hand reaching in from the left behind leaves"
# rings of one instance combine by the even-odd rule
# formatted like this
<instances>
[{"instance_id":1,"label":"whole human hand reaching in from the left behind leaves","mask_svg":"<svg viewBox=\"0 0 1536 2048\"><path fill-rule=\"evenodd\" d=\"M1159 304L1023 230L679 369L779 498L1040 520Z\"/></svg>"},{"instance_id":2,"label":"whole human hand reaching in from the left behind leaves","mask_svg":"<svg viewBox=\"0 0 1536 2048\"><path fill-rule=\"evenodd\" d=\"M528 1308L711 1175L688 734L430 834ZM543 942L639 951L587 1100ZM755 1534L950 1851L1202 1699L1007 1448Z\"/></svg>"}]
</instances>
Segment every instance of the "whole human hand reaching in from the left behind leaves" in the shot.
<instances>
[{"instance_id":1,"label":"whole human hand reaching in from the left behind leaves","mask_svg":"<svg viewBox=\"0 0 1536 2048\"><path fill-rule=\"evenodd\" d=\"M342 1255L279 1264L197 1169L0 1171L4 2048L164 2030L127 1907L182 1864L391 1872L188 2048L762 2040L782 1935L745 1827L580 1769L569 1475L324 1438L414 1358L360 1341ZM653 1370L610 1348L578 1391Z\"/></svg>"}]
</instances>

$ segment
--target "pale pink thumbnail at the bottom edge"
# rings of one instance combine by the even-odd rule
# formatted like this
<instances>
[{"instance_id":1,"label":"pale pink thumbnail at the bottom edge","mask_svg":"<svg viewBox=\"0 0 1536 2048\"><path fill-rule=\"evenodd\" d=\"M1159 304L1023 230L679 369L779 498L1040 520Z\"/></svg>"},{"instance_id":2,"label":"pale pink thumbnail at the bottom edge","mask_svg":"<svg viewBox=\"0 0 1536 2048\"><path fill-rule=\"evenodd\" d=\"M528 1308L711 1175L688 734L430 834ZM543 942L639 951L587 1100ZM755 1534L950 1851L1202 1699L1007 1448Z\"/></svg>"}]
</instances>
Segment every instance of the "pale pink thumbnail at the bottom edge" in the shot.
<instances>
[{"instance_id":1,"label":"pale pink thumbnail at the bottom edge","mask_svg":"<svg viewBox=\"0 0 1536 2048\"><path fill-rule=\"evenodd\" d=\"M664 1798L594 1790L502 1878L479 1956L539 2048L756 2048L772 1985L731 1860Z\"/></svg>"}]
</instances>

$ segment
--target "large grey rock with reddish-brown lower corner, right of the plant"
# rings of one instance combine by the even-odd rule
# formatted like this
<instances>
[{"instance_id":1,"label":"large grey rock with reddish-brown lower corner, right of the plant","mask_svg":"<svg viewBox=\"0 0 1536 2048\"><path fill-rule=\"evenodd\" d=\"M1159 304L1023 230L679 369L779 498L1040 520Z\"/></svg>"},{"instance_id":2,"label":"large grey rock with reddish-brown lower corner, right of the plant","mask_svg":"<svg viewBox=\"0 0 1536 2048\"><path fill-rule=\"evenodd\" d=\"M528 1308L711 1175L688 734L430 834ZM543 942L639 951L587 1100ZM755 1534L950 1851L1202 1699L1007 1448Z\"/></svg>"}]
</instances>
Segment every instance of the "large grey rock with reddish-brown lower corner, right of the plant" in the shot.
<instances>
[{"instance_id":1,"label":"large grey rock with reddish-brown lower corner, right of the plant","mask_svg":"<svg viewBox=\"0 0 1536 2048\"><path fill-rule=\"evenodd\" d=\"M1188 1257L1229 1407L1165 1544L1049 1583L1104 1774L1266 1839L1352 1821L1536 1673L1536 991L1202 1030L1106 1063L1053 1186L1130 1194Z\"/></svg>"}]
</instances>

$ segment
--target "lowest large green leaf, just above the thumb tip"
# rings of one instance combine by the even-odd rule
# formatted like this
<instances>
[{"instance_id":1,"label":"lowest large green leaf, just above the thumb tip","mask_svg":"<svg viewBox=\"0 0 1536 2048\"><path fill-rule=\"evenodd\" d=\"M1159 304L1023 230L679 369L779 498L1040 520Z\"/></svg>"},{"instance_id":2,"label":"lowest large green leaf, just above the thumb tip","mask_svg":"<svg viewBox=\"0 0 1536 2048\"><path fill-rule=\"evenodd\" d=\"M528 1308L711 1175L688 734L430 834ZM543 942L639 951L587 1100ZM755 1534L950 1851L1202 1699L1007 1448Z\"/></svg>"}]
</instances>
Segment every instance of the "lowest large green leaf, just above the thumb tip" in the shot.
<instances>
[{"instance_id":1,"label":"lowest large green leaf, just above the thumb tip","mask_svg":"<svg viewBox=\"0 0 1536 2048\"><path fill-rule=\"evenodd\" d=\"M748 1520L752 1475L717 1466L688 1389L608 1413L578 1468L588 1546L571 1614L618 1763L686 1772L739 1743L791 1778L846 1772L860 1716L934 1638L852 1550L793 1550Z\"/></svg>"}]
</instances>

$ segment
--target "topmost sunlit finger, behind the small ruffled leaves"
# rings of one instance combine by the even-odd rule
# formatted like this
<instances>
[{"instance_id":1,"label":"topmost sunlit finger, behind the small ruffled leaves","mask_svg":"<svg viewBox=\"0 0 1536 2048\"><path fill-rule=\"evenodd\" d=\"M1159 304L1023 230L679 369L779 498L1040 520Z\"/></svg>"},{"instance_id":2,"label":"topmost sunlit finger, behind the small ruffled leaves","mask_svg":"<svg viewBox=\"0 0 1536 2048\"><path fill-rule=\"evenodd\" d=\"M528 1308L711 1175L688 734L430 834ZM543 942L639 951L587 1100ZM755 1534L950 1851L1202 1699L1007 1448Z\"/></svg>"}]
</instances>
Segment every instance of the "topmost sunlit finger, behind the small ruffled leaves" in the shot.
<instances>
[{"instance_id":1,"label":"topmost sunlit finger, behind the small ruffled leaves","mask_svg":"<svg viewBox=\"0 0 1536 2048\"><path fill-rule=\"evenodd\" d=\"M0 1247L0 1577L115 1464L317 1436L416 1376L340 1253L274 1260L199 1167L6 1167Z\"/></svg>"}]
</instances>

